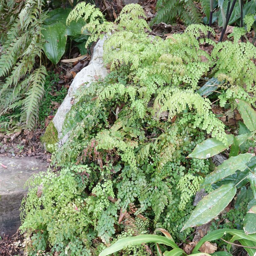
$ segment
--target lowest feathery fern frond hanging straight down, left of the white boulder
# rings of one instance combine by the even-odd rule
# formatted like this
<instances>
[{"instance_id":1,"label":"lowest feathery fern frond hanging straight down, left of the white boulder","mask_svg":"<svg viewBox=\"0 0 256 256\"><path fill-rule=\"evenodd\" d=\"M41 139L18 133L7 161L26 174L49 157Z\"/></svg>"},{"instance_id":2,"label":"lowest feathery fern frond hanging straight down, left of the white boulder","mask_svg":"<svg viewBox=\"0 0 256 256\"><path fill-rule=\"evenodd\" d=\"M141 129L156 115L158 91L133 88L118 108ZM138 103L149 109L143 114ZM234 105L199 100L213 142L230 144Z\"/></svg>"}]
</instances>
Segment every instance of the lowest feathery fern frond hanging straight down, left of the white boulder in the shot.
<instances>
[{"instance_id":1,"label":"lowest feathery fern frond hanging straight down, left of the white boulder","mask_svg":"<svg viewBox=\"0 0 256 256\"><path fill-rule=\"evenodd\" d=\"M40 66L30 75L30 85L23 101L22 121L26 121L29 130L35 126L38 118L38 106L44 96L44 83L47 71L45 66Z\"/></svg>"}]
</instances>

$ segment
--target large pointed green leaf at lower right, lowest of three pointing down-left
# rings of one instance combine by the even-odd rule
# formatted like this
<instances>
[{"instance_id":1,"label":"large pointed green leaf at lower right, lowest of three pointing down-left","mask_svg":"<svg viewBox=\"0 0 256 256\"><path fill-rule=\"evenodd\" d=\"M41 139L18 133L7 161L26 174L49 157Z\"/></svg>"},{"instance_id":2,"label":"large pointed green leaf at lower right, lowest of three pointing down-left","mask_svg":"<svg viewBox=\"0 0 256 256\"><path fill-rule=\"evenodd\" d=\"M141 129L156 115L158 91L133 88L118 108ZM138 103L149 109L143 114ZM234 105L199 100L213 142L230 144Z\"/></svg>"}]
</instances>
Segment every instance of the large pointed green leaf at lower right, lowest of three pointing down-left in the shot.
<instances>
[{"instance_id":1,"label":"large pointed green leaf at lower right, lowest of three pointing down-left","mask_svg":"<svg viewBox=\"0 0 256 256\"><path fill-rule=\"evenodd\" d=\"M233 185L223 185L206 195L192 211L181 231L189 227L206 224L215 218L225 209L235 194L236 188Z\"/></svg>"}]
</instances>

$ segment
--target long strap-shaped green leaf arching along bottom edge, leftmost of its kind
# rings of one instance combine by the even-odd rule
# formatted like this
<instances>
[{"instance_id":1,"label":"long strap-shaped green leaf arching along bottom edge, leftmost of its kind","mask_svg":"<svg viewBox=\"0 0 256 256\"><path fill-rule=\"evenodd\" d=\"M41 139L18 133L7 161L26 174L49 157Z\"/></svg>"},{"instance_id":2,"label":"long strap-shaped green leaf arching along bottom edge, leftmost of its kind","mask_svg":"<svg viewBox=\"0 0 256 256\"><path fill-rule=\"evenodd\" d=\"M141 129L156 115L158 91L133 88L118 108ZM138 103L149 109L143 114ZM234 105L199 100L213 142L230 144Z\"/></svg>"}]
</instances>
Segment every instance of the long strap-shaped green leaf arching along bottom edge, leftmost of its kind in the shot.
<instances>
[{"instance_id":1,"label":"long strap-shaped green leaf arching along bottom edge, leftmost of its kind","mask_svg":"<svg viewBox=\"0 0 256 256\"><path fill-rule=\"evenodd\" d=\"M138 235L133 237L121 238L116 241L115 244L112 244L110 247L103 250L99 256L106 256L112 253L115 253L121 249L123 249L128 244L130 245L140 245L144 243L157 243L157 244L165 244L172 248L179 248L173 241L158 235Z\"/></svg>"}]
</instances>

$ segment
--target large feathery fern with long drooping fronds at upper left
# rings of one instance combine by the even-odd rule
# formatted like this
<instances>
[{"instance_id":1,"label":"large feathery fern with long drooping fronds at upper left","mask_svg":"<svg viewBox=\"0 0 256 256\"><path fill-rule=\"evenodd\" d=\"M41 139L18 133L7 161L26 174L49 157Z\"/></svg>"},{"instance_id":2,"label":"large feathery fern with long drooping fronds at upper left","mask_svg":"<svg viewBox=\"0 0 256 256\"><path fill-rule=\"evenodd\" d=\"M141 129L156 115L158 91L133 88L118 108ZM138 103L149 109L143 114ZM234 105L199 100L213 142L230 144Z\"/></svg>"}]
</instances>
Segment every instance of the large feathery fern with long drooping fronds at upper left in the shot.
<instances>
[{"instance_id":1,"label":"large feathery fern with long drooping fronds at upper left","mask_svg":"<svg viewBox=\"0 0 256 256\"><path fill-rule=\"evenodd\" d=\"M20 121L32 129L37 121L38 106L44 95L45 67L37 65L35 58L41 55L41 14L44 1L27 0L17 6L15 1L2 1L8 10L7 37L0 57L0 112L22 108ZM20 11L17 12L17 9ZM10 15L12 15L11 18Z\"/></svg>"}]
</instances>

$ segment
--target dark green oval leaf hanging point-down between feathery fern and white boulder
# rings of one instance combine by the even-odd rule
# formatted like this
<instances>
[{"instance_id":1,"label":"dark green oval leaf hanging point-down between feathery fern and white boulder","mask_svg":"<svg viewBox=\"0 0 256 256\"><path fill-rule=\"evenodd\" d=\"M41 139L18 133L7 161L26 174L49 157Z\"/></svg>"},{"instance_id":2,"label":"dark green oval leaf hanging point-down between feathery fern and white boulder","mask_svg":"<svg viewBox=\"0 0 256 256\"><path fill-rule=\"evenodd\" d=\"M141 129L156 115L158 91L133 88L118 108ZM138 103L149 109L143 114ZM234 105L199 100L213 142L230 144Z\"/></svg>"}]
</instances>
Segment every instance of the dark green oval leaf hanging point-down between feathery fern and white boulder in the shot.
<instances>
[{"instance_id":1,"label":"dark green oval leaf hanging point-down between feathery fern and white boulder","mask_svg":"<svg viewBox=\"0 0 256 256\"><path fill-rule=\"evenodd\" d=\"M42 25L42 35L46 42L43 45L43 50L47 58L57 64L65 52L67 35L66 27L58 22L52 25Z\"/></svg>"}]
</instances>

